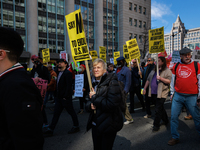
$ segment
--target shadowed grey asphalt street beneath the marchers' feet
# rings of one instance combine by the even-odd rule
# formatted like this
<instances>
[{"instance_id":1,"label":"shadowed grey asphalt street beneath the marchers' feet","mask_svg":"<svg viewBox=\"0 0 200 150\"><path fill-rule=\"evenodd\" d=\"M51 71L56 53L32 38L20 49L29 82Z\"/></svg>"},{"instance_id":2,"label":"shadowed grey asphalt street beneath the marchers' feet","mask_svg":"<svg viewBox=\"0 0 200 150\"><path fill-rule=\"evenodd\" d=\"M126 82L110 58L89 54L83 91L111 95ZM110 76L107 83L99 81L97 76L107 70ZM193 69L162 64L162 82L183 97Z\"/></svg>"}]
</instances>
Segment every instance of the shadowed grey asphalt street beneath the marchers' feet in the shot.
<instances>
[{"instance_id":1,"label":"shadowed grey asphalt street beneath the marchers' feet","mask_svg":"<svg viewBox=\"0 0 200 150\"><path fill-rule=\"evenodd\" d=\"M154 107L152 107L152 118L144 119L145 112L139 108L140 104L136 101L136 113L131 114L134 123L124 125L122 130L118 132L114 150L199 150L200 137L197 133L193 120L184 120L186 112L181 113L179 119L179 133L180 143L175 146L168 146L167 142L170 140L170 125L161 126L158 132L152 132ZM73 100L75 111L79 110L78 99ZM46 112L48 121L51 122L53 112L49 109L53 104L48 103ZM167 101L165 104L168 117L170 119L171 102ZM72 127L72 120L66 110L59 119L59 122L54 130L54 136L46 137L44 150L92 150L92 135L91 130L86 132L86 124L89 113L84 112L78 115L80 122L80 132L75 134L67 134Z\"/></svg>"}]
</instances>

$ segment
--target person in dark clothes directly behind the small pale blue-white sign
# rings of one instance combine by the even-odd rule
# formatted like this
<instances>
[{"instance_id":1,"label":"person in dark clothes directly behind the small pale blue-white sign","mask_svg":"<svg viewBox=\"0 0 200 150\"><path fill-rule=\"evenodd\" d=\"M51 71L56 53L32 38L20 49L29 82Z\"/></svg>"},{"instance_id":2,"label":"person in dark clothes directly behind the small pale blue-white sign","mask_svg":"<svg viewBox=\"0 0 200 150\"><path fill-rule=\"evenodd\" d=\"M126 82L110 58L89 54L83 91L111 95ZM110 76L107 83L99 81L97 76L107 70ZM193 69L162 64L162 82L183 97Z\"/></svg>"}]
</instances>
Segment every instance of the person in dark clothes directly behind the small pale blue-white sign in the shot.
<instances>
[{"instance_id":1,"label":"person in dark clothes directly behind the small pale blue-white sign","mask_svg":"<svg viewBox=\"0 0 200 150\"><path fill-rule=\"evenodd\" d=\"M79 103L80 103L80 110L78 112L78 114L82 114L83 113L83 105L84 103L86 103L86 99L85 97L87 96L88 92L89 92L89 83L88 83L88 77L87 77L87 73L86 73L86 67L84 64L81 64L79 67L79 73L83 74L83 80L84 80L84 86L83 86L83 97L79 97Z\"/></svg>"}]
</instances>

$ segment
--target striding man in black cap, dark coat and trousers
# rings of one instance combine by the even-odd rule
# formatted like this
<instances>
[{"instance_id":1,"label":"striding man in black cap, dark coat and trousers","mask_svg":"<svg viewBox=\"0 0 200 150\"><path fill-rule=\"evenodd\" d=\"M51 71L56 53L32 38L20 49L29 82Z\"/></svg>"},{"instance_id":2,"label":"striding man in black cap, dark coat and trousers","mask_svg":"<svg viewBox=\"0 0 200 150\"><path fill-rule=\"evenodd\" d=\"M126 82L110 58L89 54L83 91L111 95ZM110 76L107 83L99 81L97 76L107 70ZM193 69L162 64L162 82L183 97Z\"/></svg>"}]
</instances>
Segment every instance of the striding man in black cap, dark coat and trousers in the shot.
<instances>
[{"instance_id":1,"label":"striding man in black cap, dark coat and trousers","mask_svg":"<svg viewBox=\"0 0 200 150\"><path fill-rule=\"evenodd\" d=\"M65 59L59 60L59 73L57 77L55 109L52 122L44 132L45 136L52 136L58 119L65 108L73 120L73 127L68 134L79 132L79 122L72 104L72 73L67 70L68 63Z\"/></svg>"}]
</instances>

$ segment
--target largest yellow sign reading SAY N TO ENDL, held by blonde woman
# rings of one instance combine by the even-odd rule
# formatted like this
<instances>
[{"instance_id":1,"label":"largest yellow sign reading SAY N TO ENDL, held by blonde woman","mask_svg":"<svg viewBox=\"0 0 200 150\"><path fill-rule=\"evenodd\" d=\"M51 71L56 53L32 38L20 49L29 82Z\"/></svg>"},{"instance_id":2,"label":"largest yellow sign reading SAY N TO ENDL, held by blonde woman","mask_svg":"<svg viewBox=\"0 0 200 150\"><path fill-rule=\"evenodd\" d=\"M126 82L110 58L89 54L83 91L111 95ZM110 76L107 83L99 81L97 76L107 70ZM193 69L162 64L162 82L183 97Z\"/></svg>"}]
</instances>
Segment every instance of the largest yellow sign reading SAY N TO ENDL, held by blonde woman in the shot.
<instances>
[{"instance_id":1,"label":"largest yellow sign reading SAY N TO ENDL, held by blonde woman","mask_svg":"<svg viewBox=\"0 0 200 150\"><path fill-rule=\"evenodd\" d=\"M90 60L89 50L83 28L81 10L78 9L65 16L72 58L75 62Z\"/></svg>"}]
</instances>

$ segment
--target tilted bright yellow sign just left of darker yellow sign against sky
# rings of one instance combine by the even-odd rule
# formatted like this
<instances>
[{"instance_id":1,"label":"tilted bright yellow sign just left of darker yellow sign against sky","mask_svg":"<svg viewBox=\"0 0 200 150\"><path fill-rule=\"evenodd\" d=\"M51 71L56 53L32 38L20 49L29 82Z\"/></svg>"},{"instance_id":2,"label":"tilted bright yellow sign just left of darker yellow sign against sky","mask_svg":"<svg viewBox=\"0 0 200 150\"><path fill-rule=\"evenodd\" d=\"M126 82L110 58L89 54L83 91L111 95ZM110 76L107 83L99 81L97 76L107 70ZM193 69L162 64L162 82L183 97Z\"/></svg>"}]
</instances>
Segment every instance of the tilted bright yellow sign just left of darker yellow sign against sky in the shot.
<instances>
[{"instance_id":1,"label":"tilted bright yellow sign just left of darker yellow sign against sky","mask_svg":"<svg viewBox=\"0 0 200 150\"><path fill-rule=\"evenodd\" d=\"M138 47L136 38L126 41L126 45L129 52L129 58L131 60L140 58L140 49Z\"/></svg>"}]
</instances>

